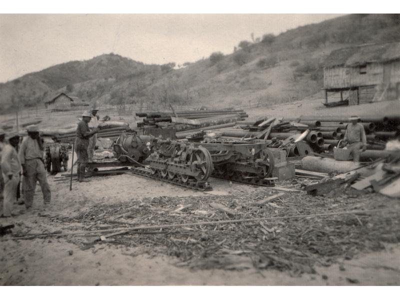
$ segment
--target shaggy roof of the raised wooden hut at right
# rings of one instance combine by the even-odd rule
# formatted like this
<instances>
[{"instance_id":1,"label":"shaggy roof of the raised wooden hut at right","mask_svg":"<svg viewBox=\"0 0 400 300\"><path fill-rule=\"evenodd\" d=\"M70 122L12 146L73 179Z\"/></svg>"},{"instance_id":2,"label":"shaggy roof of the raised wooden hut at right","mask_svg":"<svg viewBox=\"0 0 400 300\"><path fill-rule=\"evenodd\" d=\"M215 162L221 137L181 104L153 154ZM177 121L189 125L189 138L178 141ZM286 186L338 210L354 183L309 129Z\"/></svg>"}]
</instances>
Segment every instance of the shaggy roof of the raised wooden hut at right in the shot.
<instances>
[{"instance_id":1,"label":"shaggy roof of the raised wooden hut at right","mask_svg":"<svg viewBox=\"0 0 400 300\"><path fill-rule=\"evenodd\" d=\"M400 59L400 42L367 44L333 50L324 66L356 66L367 62Z\"/></svg>"}]
</instances>

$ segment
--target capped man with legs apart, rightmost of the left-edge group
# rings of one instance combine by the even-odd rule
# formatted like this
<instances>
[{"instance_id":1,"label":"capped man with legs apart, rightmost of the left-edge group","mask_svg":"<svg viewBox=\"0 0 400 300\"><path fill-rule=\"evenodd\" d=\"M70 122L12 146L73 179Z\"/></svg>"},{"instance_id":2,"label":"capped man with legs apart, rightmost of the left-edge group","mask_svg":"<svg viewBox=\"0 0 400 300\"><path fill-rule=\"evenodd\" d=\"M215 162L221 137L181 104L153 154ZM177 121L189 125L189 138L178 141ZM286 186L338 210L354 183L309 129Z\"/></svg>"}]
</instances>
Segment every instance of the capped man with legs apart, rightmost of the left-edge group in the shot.
<instances>
[{"instance_id":1,"label":"capped man with legs apart, rightmost of the left-edge group","mask_svg":"<svg viewBox=\"0 0 400 300\"><path fill-rule=\"evenodd\" d=\"M51 192L43 163L43 141L39 135L39 129L36 125L30 125L26 130L28 136L22 140L18 156L22 165L22 190L25 207L29 209L32 206L36 181L39 181L44 206L50 203Z\"/></svg>"}]
</instances>

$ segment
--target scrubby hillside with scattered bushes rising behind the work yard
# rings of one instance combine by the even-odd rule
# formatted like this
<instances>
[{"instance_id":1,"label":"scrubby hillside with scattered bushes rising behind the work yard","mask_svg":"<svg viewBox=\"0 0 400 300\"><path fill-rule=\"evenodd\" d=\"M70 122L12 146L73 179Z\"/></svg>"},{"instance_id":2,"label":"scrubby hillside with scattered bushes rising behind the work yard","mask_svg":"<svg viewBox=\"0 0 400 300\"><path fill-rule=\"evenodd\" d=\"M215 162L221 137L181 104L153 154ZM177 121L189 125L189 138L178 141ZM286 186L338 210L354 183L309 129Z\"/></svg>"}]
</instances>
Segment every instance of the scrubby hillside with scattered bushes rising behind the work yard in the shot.
<instances>
[{"instance_id":1,"label":"scrubby hillside with scattered bushes rising behind the work yard","mask_svg":"<svg viewBox=\"0 0 400 300\"><path fill-rule=\"evenodd\" d=\"M300 100L322 87L324 58L343 46L400 40L398 14L352 14L238 41L233 52L147 65L116 54L70 61L0 84L0 103L34 106L58 92L103 103L226 106ZM249 34L250 35L250 34Z\"/></svg>"}]
</instances>

